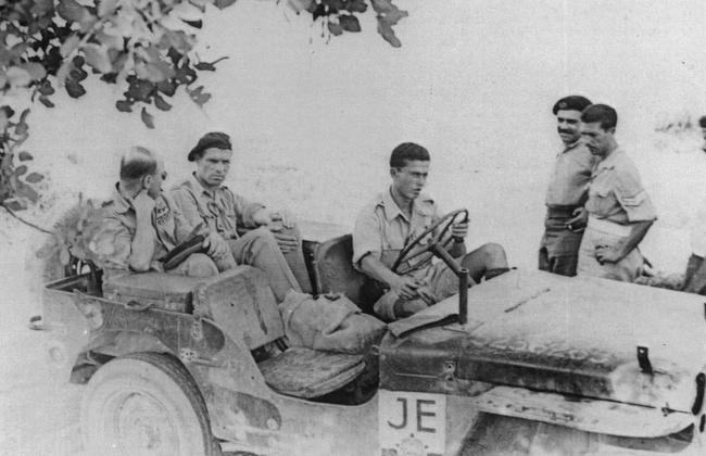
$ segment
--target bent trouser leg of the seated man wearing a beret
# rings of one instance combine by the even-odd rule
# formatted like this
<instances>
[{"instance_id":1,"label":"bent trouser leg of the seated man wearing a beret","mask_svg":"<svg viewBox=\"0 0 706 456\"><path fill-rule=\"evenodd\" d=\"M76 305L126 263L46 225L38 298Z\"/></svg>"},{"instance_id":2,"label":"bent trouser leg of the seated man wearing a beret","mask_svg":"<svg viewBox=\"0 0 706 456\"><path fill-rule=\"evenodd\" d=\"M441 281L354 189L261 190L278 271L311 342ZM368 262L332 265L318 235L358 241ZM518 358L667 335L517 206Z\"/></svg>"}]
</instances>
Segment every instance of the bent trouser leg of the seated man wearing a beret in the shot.
<instances>
[{"instance_id":1,"label":"bent trouser leg of the seated man wearing a beret","mask_svg":"<svg viewBox=\"0 0 706 456\"><path fill-rule=\"evenodd\" d=\"M285 301L289 290L302 291L277 240L267 228L253 229L228 243L238 264L254 266L267 275L269 287L278 302Z\"/></svg>"}]
</instances>

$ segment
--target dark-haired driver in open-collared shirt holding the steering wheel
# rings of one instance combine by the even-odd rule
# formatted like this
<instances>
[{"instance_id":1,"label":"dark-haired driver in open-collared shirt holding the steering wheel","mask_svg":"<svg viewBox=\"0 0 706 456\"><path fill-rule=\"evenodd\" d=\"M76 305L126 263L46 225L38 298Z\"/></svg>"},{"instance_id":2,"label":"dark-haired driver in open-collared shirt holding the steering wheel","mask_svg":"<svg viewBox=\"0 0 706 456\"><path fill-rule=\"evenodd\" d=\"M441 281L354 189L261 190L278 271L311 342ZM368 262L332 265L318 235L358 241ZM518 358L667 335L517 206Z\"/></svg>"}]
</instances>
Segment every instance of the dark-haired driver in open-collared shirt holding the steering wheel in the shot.
<instances>
[{"instance_id":1,"label":"dark-haired driver in open-collared shirt holding the steering wheel","mask_svg":"<svg viewBox=\"0 0 706 456\"><path fill-rule=\"evenodd\" d=\"M429 152L419 144L405 142L394 148L390 156L392 185L366 205L355 221L353 266L387 289L374 305L375 313L387 321L413 315L458 291L454 273L443 262L433 263L431 253L421 253L434 240L442 244L449 240L443 232L444 218L450 218L447 235L453 238L446 251L469 270L469 282L508 270L500 244L487 243L466 253L467 219L441 217L434 201L421 193L429 161ZM439 227L418 239L439 221ZM417 245L399 258L414 241Z\"/></svg>"}]
</instances>

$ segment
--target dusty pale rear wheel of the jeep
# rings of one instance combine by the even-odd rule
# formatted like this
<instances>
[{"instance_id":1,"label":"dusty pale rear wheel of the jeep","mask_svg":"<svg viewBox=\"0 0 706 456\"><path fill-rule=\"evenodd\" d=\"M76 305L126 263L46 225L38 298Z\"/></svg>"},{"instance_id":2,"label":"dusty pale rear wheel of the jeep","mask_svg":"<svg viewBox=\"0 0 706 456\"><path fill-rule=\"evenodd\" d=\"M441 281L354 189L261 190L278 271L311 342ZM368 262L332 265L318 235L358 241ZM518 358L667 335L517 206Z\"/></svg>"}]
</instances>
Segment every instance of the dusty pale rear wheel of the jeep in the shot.
<instances>
[{"instance_id":1,"label":"dusty pale rear wheel of the jeep","mask_svg":"<svg viewBox=\"0 0 706 456\"><path fill-rule=\"evenodd\" d=\"M130 354L102 366L87 384L80 425L89 454L220 454L191 376L157 353Z\"/></svg>"}]
</instances>

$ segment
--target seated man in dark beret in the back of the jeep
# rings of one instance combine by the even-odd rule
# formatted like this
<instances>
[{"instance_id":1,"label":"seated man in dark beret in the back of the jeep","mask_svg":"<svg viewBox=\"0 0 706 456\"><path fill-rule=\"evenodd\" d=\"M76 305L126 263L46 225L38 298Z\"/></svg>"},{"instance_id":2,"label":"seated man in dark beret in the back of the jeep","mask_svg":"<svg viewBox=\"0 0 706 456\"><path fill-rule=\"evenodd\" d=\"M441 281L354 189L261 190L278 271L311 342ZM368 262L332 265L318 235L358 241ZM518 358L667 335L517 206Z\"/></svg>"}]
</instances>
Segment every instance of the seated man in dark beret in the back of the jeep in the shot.
<instances>
[{"instance_id":1,"label":"seated man in dark beret in the back of the jeep","mask_svg":"<svg viewBox=\"0 0 706 456\"><path fill-rule=\"evenodd\" d=\"M228 135L219 131L204 135L188 154L196 170L175 186L171 195L189 223L205 224L212 233L228 243L238 264L264 270L275 296L283 301L289 290L302 291L300 283L308 286L293 217L286 211L269 211L230 191L224 181L231 159Z\"/></svg>"}]
</instances>

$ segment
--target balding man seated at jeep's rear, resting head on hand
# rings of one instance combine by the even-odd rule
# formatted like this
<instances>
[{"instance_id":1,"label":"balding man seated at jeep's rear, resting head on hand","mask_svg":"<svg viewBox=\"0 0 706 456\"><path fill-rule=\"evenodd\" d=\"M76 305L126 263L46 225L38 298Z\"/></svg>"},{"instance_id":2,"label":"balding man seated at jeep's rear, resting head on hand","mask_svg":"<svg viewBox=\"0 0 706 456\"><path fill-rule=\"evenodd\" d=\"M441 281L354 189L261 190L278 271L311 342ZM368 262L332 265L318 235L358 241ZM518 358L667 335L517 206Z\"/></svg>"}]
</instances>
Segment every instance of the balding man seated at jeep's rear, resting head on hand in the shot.
<instances>
[{"instance_id":1,"label":"balding man seated at jeep's rear, resting head on hand","mask_svg":"<svg viewBox=\"0 0 706 456\"><path fill-rule=\"evenodd\" d=\"M163 270L161 259L194 232L178 208L162 193L164 162L135 147L121 160L121 180L104 204L105 218L89 248L104 278L127 271ZM204 232L204 235L206 235ZM203 241L204 253L193 253L168 274L209 277L235 265L228 245L214 236Z\"/></svg>"}]
</instances>

